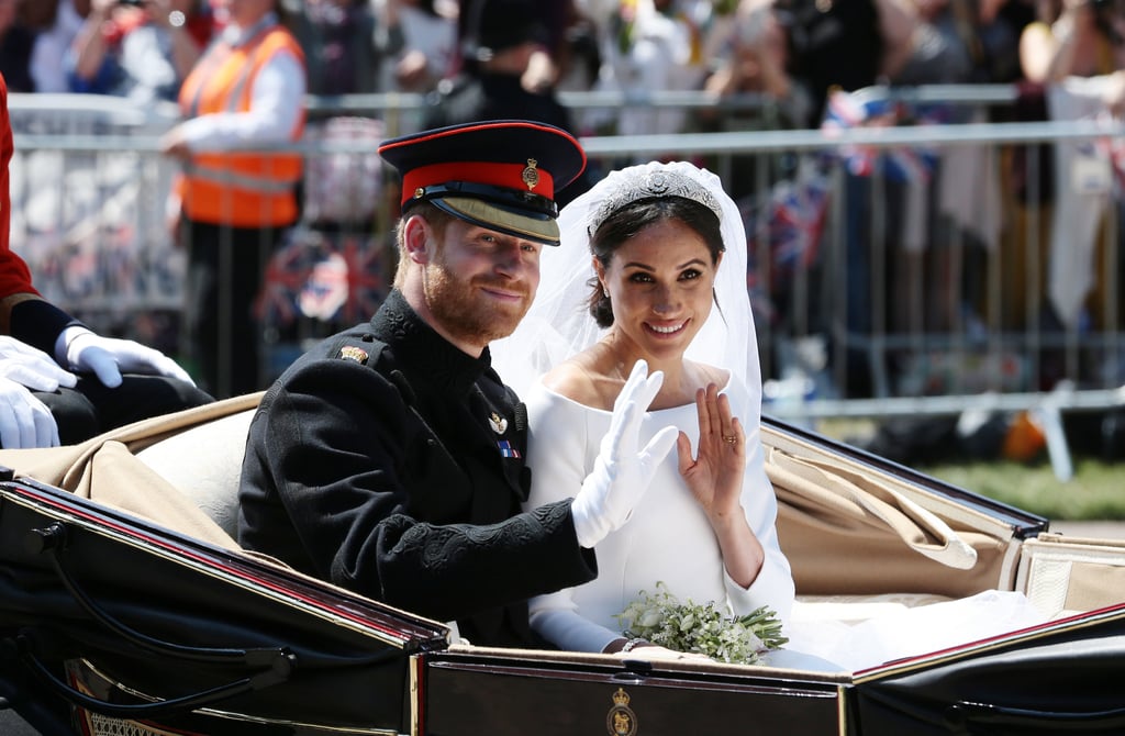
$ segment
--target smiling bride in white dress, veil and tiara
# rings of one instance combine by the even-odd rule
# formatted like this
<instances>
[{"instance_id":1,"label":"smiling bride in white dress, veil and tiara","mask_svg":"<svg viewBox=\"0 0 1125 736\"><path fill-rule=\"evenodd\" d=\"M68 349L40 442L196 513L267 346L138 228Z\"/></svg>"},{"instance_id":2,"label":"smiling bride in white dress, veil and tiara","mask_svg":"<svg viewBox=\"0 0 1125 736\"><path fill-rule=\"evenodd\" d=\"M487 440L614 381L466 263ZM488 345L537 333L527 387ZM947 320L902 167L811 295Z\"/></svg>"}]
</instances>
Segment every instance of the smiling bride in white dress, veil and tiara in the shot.
<instances>
[{"instance_id":1,"label":"smiling bride in white dress, veil and tiara","mask_svg":"<svg viewBox=\"0 0 1125 736\"><path fill-rule=\"evenodd\" d=\"M528 503L577 492L639 360L664 374L641 443L668 425L680 438L629 521L597 546L597 578L533 600L533 628L564 649L618 652L627 638L615 616L657 582L681 601L739 614L770 605L784 620L793 581L763 467L737 208L714 174L650 163L611 173L559 225L561 248L542 254L550 278L520 331L494 350L513 363L537 356L531 370L573 356L530 388L500 368L528 403Z\"/></svg>"}]
</instances>

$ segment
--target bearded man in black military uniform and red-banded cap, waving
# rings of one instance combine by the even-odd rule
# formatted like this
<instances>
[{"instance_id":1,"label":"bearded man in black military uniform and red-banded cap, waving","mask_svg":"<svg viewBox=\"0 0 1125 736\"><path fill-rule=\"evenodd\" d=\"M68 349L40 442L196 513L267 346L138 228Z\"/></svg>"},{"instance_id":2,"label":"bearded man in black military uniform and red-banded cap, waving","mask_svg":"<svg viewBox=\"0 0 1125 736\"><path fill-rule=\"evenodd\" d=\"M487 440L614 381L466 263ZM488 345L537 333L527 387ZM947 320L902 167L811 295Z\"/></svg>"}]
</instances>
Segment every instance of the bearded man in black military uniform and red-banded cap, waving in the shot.
<instances>
[{"instance_id":1,"label":"bearded man in black military uniform and red-banded cap, waving","mask_svg":"<svg viewBox=\"0 0 1125 736\"><path fill-rule=\"evenodd\" d=\"M250 429L238 541L474 644L534 646L526 600L596 575L670 450L638 451L660 375L622 392L603 457L573 499L521 513L526 414L490 367L559 244L555 196L585 168L564 131L496 120L385 142L403 177L394 289L369 323L298 359Z\"/></svg>"}]
</instances>

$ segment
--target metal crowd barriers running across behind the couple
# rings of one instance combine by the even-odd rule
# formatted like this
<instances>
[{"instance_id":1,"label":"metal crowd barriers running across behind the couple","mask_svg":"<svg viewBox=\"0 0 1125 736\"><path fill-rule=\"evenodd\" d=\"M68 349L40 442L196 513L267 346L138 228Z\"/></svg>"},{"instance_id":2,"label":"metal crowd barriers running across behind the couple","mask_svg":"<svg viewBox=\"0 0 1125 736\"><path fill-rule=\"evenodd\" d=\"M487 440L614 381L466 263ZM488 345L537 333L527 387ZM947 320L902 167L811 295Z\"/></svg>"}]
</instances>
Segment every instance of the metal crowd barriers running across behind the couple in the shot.
<instances>
[{"instance_id":1,"label":"metal crowd barriers running across behind the couple","mask_svg":"<svg viewBox=\"0 0 1125 736\"><path fill-rule=\"evenodd\" d=\"M1008 86L868 93L971 110L1005 109L1016 95ZM145 315L174 314L182 297L182 253L171 241L164 207L176 168L158 152L160 133L174 117L128 109L122 100L63 98L10 98L17 149L14 246L32 264L37 286L76 312L115 318L132 314L133 330L144 324ZM765 105L760 98L718 100L702 93L644 100L566 93L562 99L576 109L650 105L745 113ZM378 118L389 136L406 132L424 104L417 96L312 98L309 110L317 119ZM1058 324L1044 317L1050 313L1050 231L1028 225L1048 214L1051 203L1015 200L1009 174L1012 156L1026 152L1029 179L1036 179L1036 169L1048 163L1038 154L1038 144L1097 152L1122 133L1120 127L1095 122L974 122L854 127L831 135L755 131L587 136L583 144L602 169L685 158L712 168L724 181L734 181L739 168L752 172L744 177L749 185L740 201L753 249L748 288L770 380L767 411L816 420L951 414L983 405L1120 405L1125 344L1117 197L1098 195L1106 206L1098 231L1099 260L1090 266L1089 307L1078 323ZM309 136L282 147L304 153L310 167L332 156L369 163L372 158L371 141L363 136ZM889 162L894 161L904 161L907 169L912 162L915 179L909 172L892 177ZM987 165L974 169L982 163ZM858 164L870 172L857 173ZM378 168L377 161L374 165ZM942 177L956 167L958 186L971 186L973 192L940 188L942 182L948 185ZM966 178L965 171L975 173ZM948 209L940 197L956 200L961 209ZM925 226L919 226L922 218ZM989 221L988 232L982 218ZM349 302L353 313L348 318L377 303L389 284L393 263L386 251L393 219L387 203L380 203L367 222L342 228L360 243L349 245L349 266L375 264L379 271L377 279L361 286L356 273L330 279L339 287L341 278L351 278L350 288L367 289L363 299ZM320 249L320 257L306 263L304 273L284 272L290 281L308 279L314 267L325 266L323 259L343 253L339 243L323 242L339 239L341 228L306 222L302 230L320 239L312 248ZM378 255L357 258L364 248L377 249ZM324 271L321 268L322 276ZM331 311L332 299L309 296L307 282L289 286L292 294L279 298L291 297L294 304L278 308L290 312L290 323L280 330L263 327L285 356L282 363L299 352L297 342L327 333L341 318L340 308ZM328 289L323 282L314 287ZM313 306L296 304L303 295ZM292 350L286 352L286 344ZM278 368L263 366L263 380Z\"/></svg>"}]
</instances>

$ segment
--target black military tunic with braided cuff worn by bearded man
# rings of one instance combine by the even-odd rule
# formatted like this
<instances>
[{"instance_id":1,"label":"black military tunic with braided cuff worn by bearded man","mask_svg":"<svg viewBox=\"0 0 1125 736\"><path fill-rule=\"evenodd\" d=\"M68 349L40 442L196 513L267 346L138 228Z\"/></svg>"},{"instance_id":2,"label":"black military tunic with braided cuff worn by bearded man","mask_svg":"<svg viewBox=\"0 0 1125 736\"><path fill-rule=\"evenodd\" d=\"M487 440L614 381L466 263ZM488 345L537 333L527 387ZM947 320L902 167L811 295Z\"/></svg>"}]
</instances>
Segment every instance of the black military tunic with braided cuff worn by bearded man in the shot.
<instances>
[{"instance_id":1,"label":"black military tunic with braided cuff worn by bearded man","mask_svg":"<svg viewBox=\"0 0 1125 736\"><path fill-rule=\"evenodd\" d=\"M525 600L592 580L568 502L529 513L523 405L393 291L266 394L250 429L238 541L441 621L529 646ZM577 490L576 490L577 491Z\"/></svg>"}]
</instances>

